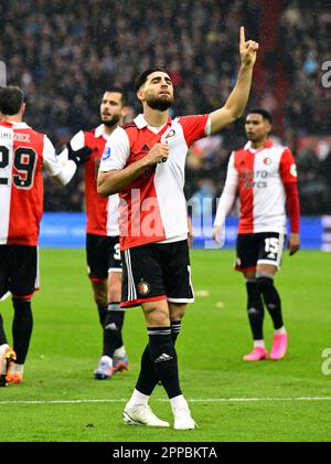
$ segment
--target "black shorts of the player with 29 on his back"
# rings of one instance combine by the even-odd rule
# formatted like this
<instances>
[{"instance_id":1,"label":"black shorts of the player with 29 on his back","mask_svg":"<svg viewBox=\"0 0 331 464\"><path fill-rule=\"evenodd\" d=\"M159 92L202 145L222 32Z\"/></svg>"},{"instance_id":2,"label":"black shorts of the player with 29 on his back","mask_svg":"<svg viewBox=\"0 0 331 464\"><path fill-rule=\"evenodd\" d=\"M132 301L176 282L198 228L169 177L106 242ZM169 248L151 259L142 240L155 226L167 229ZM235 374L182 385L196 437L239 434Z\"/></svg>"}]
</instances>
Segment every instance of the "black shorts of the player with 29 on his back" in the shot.
<instances>
[{"instance_id":1,"label":"black shorts of the player with 29 on his back","mask_svg":"<svg viewBox=\"0 0 331 464\"><path fill-rule=\"evenodd\" d=\"M8 292L31 298L38 288L38 247L0 245L0 298Z\"/></svg>"}]
</instances>

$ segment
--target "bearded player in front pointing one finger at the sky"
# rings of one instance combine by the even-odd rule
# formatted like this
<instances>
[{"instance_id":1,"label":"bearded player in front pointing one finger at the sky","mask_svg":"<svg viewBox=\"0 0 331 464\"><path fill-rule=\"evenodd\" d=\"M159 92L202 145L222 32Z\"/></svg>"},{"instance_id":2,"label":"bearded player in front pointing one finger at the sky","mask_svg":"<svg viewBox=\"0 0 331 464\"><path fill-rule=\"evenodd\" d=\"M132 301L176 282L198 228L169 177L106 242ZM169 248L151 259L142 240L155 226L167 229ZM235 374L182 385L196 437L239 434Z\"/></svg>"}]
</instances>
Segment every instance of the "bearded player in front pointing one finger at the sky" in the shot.
<instances>
[{"instance_id":1,"label":"bearded player in front pointing one finger at the sky","mask_svg":"<svg viewBox=\"0 0 331 464\"><path fill-rule=\"evenodd\" d=\"M257 49L256 42L246 42L242 28L236 86L225 106L210 115L172 120L169 108L174 97L169 74L161 68L143 72L136 82L143 114L117 128L107 141L98 191L103 197L120 192L121 305L142 306L149 336L136 389L125 407L127 424L169 426L149 407L161 381L174 429L195 428L180 387L174 347L186 304L194 300L183 193L185 158L195 140L218 133L243 115Z\"/></svg>"}]
</instances>

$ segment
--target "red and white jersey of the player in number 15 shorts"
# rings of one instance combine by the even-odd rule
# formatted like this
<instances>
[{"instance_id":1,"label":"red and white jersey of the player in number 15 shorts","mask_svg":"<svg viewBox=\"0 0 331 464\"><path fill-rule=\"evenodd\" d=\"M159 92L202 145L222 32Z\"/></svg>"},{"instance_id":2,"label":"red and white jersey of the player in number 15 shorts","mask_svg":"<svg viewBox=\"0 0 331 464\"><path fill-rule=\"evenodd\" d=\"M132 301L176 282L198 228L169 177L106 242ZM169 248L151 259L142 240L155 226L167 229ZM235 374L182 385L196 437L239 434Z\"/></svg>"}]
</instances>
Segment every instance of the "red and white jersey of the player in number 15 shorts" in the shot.
<instances>
[{"instance_id":1,"label":"red and white jersey of the player in number 15 shorts","mask_svg":"<svg viewBox=\"0 0 331 464\"><path fill-rule=\"evenodd\" d=\"M297 166L289 148L271 140L259 149L250 141L229 158L226 184L237 186L239 234L287 232L285 184L297 183Z\"/></svg>"}]
</instances>

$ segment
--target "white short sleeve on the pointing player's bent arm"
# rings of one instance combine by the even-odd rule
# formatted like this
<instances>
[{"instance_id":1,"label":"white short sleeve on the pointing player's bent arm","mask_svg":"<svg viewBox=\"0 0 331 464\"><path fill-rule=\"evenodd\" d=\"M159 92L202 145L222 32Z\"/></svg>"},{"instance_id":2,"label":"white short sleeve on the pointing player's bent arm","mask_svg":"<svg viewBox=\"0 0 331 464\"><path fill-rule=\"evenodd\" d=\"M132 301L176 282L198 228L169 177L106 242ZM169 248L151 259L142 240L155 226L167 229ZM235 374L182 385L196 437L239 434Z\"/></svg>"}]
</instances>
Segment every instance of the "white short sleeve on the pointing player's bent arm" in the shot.
<instances>
[{"instance_id":1,"label":"white short sleeve on the pointing player's bent arm","mask_svg":"<svg viewBox=\"0 0 331 464\"><path fill-rule=\"evenodd\" d=\"M130 155L130 140L127 133L117 127L107 140L99 171L119 171L125 168Z\"/></svg>"}]
</instances>

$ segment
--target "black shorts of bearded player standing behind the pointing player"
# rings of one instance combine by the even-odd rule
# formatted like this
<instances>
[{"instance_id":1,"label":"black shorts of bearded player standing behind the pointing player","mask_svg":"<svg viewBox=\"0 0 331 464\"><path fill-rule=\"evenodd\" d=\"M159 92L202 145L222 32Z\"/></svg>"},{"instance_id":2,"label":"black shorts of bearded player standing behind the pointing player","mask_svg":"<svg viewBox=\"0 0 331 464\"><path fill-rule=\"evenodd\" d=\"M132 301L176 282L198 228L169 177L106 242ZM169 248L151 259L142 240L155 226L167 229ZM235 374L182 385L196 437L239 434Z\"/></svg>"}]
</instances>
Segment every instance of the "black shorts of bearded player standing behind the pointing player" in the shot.
<instances>
[{"instance_id":1,"label":"black shorts of bearded player standing behind the pointing player","mask_svg":"<svg viewBox=\"0 0 331 464\"><path fill-rule=\"evenodd\" d=\"M86 257L92 282L106 281L109 272L121 272L119 238L87 234Z\"/></svg>"}]
</instances>

